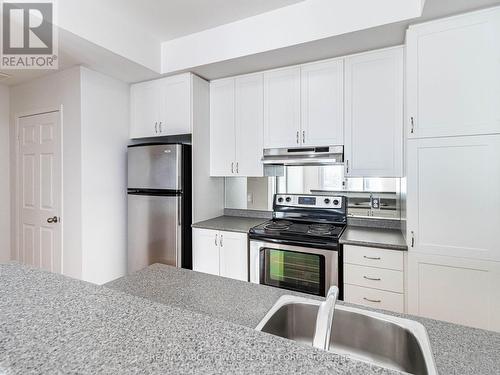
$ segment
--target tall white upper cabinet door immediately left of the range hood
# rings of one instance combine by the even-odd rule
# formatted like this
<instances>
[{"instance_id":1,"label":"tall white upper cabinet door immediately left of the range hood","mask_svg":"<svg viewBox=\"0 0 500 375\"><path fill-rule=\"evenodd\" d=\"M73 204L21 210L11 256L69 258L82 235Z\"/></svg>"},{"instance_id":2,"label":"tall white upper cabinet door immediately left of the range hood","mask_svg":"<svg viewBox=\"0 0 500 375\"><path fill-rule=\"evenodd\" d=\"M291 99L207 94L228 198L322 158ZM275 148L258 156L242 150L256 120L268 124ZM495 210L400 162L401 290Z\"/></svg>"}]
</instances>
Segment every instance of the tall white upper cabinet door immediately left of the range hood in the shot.
<instances>
[{"instance_id":1,"label":"tall white upper cabinet door immediately left of the range hood","mask_svg":"<svg viewBox=\"0 0 500 375\"><path fill-rule=\"evenodd\" d=\"M236 168L238 176L262 177L263 75L236 78Z\"/></svg>"}]
</instances>

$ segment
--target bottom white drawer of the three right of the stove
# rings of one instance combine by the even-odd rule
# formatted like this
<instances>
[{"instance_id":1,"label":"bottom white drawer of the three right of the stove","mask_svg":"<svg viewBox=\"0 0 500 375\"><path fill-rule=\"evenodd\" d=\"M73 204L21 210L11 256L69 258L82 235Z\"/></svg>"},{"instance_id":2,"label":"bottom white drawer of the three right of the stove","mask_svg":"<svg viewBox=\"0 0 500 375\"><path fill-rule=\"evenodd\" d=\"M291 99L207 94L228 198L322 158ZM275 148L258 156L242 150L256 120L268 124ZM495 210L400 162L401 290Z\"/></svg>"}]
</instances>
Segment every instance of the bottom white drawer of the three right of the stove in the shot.
<instances>
[{"instance_id":1,"label":"bottom white drawer of the three right of the stove","mask_svg":"<svg viewBox=\"0 0 500 375\"><path fill-rule=\"evenodd\" d=\"M376 309L404 313L404 295L346 284L344 301Z\"/></svg>"}]
</instances>

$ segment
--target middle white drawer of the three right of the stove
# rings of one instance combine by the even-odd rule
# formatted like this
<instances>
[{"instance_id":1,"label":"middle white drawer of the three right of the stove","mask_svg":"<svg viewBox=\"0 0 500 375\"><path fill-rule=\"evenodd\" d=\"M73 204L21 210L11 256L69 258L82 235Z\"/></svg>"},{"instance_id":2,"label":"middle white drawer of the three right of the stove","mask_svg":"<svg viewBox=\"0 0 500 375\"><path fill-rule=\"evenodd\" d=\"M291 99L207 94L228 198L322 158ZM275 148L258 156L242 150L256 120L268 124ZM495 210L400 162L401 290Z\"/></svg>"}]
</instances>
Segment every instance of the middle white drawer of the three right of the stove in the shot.
<instances>
[{"instance_id":1,"label":"middle white drawer of the three right of the stove","mask_svg":"<svg viewBox=\"0 0 500 375\"><path fill-rule=\"evenodd\" d=\"M401 271L345 264L344 282L389 292L404 292L404 277Z\"/></svg>"}]
</instances>

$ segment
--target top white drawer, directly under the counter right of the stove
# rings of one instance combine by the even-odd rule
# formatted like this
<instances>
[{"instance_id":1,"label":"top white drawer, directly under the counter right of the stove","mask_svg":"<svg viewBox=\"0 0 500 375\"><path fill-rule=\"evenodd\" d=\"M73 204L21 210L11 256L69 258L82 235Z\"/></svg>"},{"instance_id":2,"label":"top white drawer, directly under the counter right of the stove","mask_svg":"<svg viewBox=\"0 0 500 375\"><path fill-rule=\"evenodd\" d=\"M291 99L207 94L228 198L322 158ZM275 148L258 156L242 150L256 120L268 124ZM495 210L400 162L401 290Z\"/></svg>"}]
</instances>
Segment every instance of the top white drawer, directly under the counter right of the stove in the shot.
<instances>
[{"instance_id":1,"label":"top white drawer, directly under the counter right of the stove","mask_svg":"<svg viewBox=\"0 0 500 375\"><path fill-rule=\"evenodd\" d=\"M374 247L344 246L344 263L403 271L403 259L401 251Z\"/></svg>"}]
</instances>

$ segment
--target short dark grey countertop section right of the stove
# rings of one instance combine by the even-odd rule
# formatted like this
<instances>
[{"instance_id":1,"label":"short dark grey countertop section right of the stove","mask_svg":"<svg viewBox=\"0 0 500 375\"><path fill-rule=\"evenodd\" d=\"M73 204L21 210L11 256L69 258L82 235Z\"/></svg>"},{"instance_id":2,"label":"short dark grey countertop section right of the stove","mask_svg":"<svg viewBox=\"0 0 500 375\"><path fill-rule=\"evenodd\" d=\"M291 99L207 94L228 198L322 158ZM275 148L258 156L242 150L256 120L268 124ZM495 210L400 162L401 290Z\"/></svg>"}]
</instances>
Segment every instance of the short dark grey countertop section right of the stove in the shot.
<instances>
[{"instance_id":1,"label":"short dark grey countertop section right of the stove","mask_svg":"<svg viewBox=\"0 0 500 375\"><path fill-rule=\"evenodd\" d=\"M344 245L378 247L390 250L408 250L399 229L355 227L348 225L340 237Z\"/></svg>"}]
</instances>

